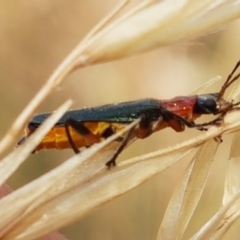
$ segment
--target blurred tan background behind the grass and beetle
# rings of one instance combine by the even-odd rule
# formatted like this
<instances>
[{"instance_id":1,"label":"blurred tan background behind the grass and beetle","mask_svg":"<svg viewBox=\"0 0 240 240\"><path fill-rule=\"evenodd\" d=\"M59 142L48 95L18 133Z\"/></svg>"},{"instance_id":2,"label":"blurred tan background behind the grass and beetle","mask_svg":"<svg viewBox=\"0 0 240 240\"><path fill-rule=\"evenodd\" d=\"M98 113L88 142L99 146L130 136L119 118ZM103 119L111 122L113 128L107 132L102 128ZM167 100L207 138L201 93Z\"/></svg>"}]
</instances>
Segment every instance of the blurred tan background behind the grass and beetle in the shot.
<instances>
[{"instance_id":1,"label":"blurred tan background behind the grass and beetle","mask_svg":"<svg viewBox=\"0 0 240 240\"><path fill-rule=\"evenodd\" d=\"M1 137L54 69L118 2L1 1ZM235 21L191 42L78 70L46 99L38 112L53 111L68 98L74 100L73 108L82 108L147 97L167 99L188 95L216 75L226 78L240 58L239 33L240 22ZM209 91L218 91L220 86L218 83ZM166 129L135 142L121 159L174 145L198 134L196 130L176 133ZM221 205L231 136L224 136L223 140L186 239ZM72 150L34 154L8 183L17 189L72 154ZM183 159L61 232L69 239L155 239L174 187L190 159L190 156ZM239 239L239 227L240 224L235 224L226 239Z\"/></svg>"}]
</instances>

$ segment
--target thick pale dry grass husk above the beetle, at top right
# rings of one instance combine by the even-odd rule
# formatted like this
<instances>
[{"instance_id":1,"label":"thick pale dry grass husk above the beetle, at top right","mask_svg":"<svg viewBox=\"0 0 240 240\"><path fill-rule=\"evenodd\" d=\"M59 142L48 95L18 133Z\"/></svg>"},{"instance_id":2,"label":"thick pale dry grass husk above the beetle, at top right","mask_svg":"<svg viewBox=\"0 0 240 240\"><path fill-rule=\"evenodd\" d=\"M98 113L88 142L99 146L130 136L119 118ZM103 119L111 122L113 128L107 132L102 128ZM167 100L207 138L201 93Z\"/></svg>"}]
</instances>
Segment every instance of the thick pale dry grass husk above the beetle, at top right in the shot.
<instances>
[{"instance_id":1,"label":"thick pale dry grass husk above the beetle, at top right","mask_svg":"<svg viewBox=\"0 0 240 240\"><path fill-rule=\"evenodd\" d=\"M80 44L78 64L123 58L191 39L239 16L238 0L170 0L146 5L117 18L88 43L84 42L85 46Z\"/></svg>"}]
</instances>

